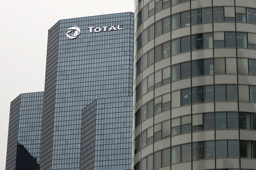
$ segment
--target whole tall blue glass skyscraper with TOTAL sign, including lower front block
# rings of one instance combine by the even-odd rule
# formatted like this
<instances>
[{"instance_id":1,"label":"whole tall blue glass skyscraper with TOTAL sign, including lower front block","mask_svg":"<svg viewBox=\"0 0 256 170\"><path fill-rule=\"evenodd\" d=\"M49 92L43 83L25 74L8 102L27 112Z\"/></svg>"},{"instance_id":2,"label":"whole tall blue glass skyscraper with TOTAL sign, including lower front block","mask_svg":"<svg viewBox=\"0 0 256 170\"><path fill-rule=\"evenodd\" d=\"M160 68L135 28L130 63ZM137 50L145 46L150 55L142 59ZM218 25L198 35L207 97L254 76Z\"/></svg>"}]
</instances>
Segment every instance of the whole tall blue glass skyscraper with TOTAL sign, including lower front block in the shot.
<instances>
[{"instance_id":1,"label":"whole tall blue glass skyscraper with TOTAL sign, including lower front block","mask_svg":"<svg viewBox=\"0 0 256 170\"><path fill-rule=\"evenodd\" d=\"M64 19L49 30L40 169L131 169L133 17ZM10 137L15 123L10 119ZM6 167L19 168L14 158Z\"/></svg>"}]
</instances>

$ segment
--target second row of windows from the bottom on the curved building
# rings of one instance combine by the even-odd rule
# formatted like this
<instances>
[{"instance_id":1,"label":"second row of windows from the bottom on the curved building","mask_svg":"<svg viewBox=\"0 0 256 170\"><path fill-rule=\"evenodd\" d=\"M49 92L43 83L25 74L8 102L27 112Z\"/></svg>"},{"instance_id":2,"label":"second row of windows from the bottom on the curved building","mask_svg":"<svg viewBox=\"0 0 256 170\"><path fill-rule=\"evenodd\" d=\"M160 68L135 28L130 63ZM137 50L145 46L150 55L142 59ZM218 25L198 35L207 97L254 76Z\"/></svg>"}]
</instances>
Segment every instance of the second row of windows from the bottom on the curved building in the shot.
<instances>
[{"instance_id":1,"label":"second row of windows from the bottom on the curved building","mask_svg":"<svg viewBox=\"0 0 256 170\"><path fill-rule=\"evenodd\" d=\"M140 123L140 111L136 112L135 124ZM135 126L136 128L136 126ZM134 140L134 154L154 141L178 134L213 129L253 129L256 130L256 113L212 112L186 115L158 123ZM141 146L141 147L140 147Z\"/></svg>"}]
</instances>

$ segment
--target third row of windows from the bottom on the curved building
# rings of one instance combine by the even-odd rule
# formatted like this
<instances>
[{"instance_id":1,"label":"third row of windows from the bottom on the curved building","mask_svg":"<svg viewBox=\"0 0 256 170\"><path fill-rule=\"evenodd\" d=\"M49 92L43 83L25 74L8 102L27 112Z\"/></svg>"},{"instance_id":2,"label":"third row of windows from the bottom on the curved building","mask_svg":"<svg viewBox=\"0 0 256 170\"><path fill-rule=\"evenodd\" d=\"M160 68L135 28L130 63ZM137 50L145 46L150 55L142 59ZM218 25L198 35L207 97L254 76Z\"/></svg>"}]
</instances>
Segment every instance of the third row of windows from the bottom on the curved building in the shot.
<instances>
[{"instance_id":1,"label":"third row of windows from the bottom on the curved building","mask_svg":"<svg viewBox=\"0 0 256 170\"><path fill-rule=\"evenodd\" d=\"M250 90L249 90L250 89ZM252 85L206 85L181 90L181 105L212 101L239 101L256 102L256 86ZM178 96L172 96L177 99ZM192 102L191 102L192 100ZM156 97L148 101L135 112L135 128L140 122L160 112L171 109L171 93Z\"/></svg>"}]
</instances>

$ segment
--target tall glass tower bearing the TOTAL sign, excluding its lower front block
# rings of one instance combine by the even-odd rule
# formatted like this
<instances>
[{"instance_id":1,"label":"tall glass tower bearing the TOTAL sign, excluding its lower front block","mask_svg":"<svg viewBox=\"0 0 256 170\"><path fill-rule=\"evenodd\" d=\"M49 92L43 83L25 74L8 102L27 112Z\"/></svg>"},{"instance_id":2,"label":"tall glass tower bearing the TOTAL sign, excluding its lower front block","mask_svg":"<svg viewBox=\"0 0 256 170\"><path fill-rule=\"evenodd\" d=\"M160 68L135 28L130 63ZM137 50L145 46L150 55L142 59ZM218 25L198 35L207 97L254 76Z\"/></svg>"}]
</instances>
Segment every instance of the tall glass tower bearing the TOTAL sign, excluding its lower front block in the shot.
<instances>
[{"instance_id":1,"label":"tall glass tower bearing the TOTAL sign, excluding its lower front block","mask_svg":"<svg viewBox=\"0 0 256 170\"><path fill-rule=\"evenodd\" d=\"M132 42L131 12L64 19L49 30L41 169L80 169L83 109L97 99L132 96Z\"/></svg>"}]
</instances>

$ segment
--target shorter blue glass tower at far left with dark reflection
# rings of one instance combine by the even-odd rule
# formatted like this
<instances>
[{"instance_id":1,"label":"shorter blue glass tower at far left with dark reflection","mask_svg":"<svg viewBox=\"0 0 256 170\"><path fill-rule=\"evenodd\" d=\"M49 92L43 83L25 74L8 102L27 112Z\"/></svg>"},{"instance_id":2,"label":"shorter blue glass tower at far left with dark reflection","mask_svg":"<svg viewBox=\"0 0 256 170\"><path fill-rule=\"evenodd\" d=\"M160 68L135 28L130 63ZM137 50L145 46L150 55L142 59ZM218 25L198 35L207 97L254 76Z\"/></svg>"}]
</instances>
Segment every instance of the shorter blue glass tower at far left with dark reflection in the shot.
<instances>
[{"instance_id":1,"label":"shorter blue glass tower at far left with dark reflection","mask_svg":"<svg viewBox=\"0 0 256 170\"><path fill-rule=\"evenodd\" d=\"M44 92L20 94L11 102L6 170L39 170Z\"/></svg>"}]
</instances>

